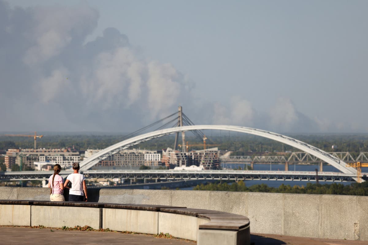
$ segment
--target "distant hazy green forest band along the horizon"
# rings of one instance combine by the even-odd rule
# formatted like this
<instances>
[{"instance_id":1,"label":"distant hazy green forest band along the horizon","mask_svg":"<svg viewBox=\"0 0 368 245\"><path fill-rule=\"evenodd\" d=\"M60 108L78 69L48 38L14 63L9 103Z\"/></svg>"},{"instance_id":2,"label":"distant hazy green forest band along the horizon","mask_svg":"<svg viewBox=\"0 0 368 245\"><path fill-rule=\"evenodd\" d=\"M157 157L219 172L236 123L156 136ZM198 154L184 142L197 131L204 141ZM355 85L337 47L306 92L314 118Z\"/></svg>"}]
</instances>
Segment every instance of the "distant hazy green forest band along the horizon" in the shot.
<instances>
[{"instance_id":1,"label":"distant hazy green forest band along the horizon","mask_svg":"<svg viewBox=\"0 0 368 245\"><path fill-rule=\"evenodd\" d=\"M359 152L368 152L368 134L289 134L288 136L304 141L323 151L348 151L353 156ZM124 140L124 134L51 134L37 140L38 148L70 148L75 151L86 149L103 149ZM234 155L251 155L257 152L285 152L300 151L289 145L279 143L267 138L248 134L231 133L222 136L208 135L207 144L219 144L220 150L233 151ZM191 149L203 149L203 141L197 137L188 135L186 141L189 145L196 144ZM181 141L179 141L181 142ZM332 148L332 145L335 147ZM134 148L160 150L174 147L174 136L164 136L135 145ZM8 137L0 135L0 149L33 148L33 138Z\"/></svg>"}]
</instances>

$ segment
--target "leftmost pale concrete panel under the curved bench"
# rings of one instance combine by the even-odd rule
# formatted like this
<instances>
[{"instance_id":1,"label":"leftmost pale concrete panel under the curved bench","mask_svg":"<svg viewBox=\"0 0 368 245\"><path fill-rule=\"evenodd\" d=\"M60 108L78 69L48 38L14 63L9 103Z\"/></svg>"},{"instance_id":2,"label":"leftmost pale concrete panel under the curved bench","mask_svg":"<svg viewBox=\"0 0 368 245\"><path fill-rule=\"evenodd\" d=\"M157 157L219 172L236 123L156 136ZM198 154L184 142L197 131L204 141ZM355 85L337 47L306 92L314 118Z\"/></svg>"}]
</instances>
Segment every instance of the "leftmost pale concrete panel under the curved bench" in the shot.
<instances>
[{"instance_id":1,"label":"leftmost pale concrete panel under the curved bench","mask_svg":"<svg viewBox=\"0 0 368 245\"><path fill-rule=\"evenodd\" d=\"M0 205L0 226L30 226L31 206Z\"/></svg>"}]
</instances>

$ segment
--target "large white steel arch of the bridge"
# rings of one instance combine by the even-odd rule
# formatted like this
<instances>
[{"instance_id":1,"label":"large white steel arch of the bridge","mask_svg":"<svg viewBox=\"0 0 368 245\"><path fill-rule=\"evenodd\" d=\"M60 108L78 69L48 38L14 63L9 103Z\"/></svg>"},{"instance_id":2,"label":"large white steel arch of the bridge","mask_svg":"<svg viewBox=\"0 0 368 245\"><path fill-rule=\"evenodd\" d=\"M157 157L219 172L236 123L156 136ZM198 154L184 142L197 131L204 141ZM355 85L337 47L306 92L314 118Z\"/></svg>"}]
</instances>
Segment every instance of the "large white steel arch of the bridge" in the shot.
<instances>
[{"instance_id":1,"label":"large white steel arch of the bridge","mask_svg":"<svg viewBox=\"0 0 368 245\"><path fill-rule=\"evenodd\" d=\"M256 136L261 136L265 138L269 138L271 140L279 141L281 143L290 145L302 151L308 152L311 155L316 156L324 162L329 163L330 165L336 167L343 173L356 173L356 170L353 167L346 167L346 163L341 161L339 158L322 151L321 149L314 147L313 145L309 145L304 143L303 141L296 140L294 138L273 133L266 130L254 129L250 127L242 127L242 126L231 126L231 125L192 125L192 126L182 126L182 127L172 127L170 129L161 129L152 131L149 133L141 134L132 138L128 138L127 140L120 141L114 145L111 145L102 151L93 154L89 158L80 162L81 170L87 170L96 165L102 159L107 158L123 149L127 149L133 145L142 143L144 141L151 140L153 138L162 137L168 134L173 134L181 131L192 131L192 130L227 130L227 131L235 131L240 133L253 134Z\"/></svg>"}]
</instances>

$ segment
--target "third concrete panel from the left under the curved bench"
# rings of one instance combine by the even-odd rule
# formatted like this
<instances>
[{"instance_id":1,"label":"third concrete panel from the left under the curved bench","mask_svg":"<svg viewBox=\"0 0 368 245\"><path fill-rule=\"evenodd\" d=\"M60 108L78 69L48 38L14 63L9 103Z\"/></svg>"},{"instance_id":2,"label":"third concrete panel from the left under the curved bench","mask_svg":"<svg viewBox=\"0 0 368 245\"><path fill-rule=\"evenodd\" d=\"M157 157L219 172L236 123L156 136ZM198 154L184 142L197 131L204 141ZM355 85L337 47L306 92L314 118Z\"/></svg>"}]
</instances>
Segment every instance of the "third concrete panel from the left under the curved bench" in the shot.
<instances>
[{"instance_id":1,"label":"third concrete panel from the left under the curved bench","mask_svg":"<svg viewBox=\"0 0 368 245\"><path fill-rule=\"evenodd\" d=\"M159 212L146 210L104 208L102 210L102 228L158 234L158 214Z\"/></svg>"}]
</instances>

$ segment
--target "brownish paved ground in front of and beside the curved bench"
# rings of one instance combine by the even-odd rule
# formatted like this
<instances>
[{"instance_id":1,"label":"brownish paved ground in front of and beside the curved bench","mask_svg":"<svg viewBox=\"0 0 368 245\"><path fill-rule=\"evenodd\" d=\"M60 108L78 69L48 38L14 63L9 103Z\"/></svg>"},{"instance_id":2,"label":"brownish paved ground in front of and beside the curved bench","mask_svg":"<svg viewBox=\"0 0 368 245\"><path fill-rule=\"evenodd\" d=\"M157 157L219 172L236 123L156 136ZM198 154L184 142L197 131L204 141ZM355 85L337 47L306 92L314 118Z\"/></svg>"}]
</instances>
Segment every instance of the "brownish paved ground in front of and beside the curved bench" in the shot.
<instances>
[{"instance_id":1,"label":"brownish paved ground in front of and beside the curved bench","mask_svg":"<svg viewBox=\"0 0 368 245\"><path fill-rule=\"evenodd\" d=\"M283 235L252 234L255 245L358 245L368 244L367 241L350 241L335 239L319 239L304 237L289 237ZM195 245L196 242L184 239L156 238L146 234L125 234L121 232L100 231L64 231L50 228L28 228L0 226L0 244L105 244L105 245Z\"/></svg>"}]
</instances>

